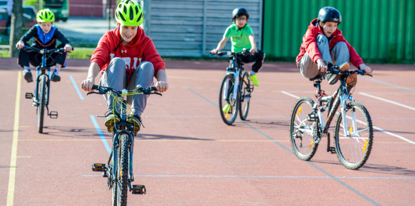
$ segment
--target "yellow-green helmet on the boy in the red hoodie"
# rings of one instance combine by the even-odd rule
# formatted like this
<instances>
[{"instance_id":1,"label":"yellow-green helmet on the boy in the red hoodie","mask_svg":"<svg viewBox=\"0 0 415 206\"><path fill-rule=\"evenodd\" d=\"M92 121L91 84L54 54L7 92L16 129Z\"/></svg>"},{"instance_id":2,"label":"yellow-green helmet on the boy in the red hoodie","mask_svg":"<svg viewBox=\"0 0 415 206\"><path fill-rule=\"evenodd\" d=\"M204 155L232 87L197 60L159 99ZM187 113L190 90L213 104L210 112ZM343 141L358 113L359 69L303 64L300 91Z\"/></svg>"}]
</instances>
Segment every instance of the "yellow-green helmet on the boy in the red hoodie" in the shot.
<instances>
[{"instance_id":1,"label":"yellow-green helmet on the boy in the red hoodie","mask_svg":"<svg viewBox=\"0 0 415 206\"><path fill-rule=\"evenodd\" d=\"M140 26L143 23L143 9L134 0L122 0L116 7L116 21L125 26Z\"/></svg>"}]
</instances>

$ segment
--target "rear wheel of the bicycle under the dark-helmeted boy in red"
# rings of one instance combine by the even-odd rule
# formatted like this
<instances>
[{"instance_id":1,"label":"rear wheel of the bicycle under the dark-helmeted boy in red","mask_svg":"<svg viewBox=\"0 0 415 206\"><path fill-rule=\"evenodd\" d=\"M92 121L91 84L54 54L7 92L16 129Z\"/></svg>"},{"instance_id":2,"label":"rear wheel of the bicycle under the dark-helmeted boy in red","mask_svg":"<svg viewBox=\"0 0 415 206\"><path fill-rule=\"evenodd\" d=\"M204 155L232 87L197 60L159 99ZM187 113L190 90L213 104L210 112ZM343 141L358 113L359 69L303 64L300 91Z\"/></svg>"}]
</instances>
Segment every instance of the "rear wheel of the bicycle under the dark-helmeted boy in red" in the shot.
<instances>
[{"instance_id":1,"label":"rear wheel of the bicycle under the dark-helmeted boy in red","mask_svg":"<svg viewBox=\"0 0 415 206\"><path fill-rule=\"evenodd\" d=\"M304 161L313 158L318 147L318 143L314 141L314 128L315 124L318 126L318 120L307 120L307 115L314 111L313 105L314 101L310 97L299 98L294 104L290 118L291 146L297 158Z\"/></svg>"}]
</instances>

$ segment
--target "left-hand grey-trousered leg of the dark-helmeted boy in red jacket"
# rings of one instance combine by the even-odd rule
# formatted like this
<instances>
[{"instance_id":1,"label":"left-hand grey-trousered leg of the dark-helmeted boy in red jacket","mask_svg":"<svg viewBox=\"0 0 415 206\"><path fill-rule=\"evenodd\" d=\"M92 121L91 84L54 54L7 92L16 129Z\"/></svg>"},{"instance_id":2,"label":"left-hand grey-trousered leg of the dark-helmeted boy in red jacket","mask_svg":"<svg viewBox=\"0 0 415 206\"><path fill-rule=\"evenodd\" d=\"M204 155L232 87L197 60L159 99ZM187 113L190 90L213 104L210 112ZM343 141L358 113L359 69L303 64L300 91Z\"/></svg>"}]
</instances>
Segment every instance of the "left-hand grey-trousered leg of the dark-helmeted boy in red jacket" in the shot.
<instances>
[{"instance_id":1,"label":"left-hand grey-trousered leg of the dark-helmeted boy in red jacket","mask_svg":"<svg viewBox=\"0 0 415 206\"><path fill-rule=\"evenodd\" d=\"M325 63L332 64L332 57L330 56L329 49L329 40L327 37L323 34L318 34L316 41L318 51L320 52L323 61ZM299 70L303 77L309 79L325 75L325 73L321 73L320 70L318 70L317 64L310 58L307 53L305 53L299 61Z\"/></svg>"}]
</instances>

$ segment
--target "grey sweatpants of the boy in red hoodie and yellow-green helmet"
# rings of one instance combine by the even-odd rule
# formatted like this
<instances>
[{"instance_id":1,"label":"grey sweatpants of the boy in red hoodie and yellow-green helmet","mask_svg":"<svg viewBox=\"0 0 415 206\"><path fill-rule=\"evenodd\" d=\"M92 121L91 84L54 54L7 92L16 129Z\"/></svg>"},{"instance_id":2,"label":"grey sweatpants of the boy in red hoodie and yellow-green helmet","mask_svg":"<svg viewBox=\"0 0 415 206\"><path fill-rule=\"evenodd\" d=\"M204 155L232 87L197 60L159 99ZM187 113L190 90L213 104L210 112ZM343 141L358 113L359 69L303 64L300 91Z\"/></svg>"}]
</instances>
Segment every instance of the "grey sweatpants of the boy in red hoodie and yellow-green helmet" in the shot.
<instances>
[{"instance_id":1,"label":"grey sweatpants of the boy in red hoodie and yellow-green helmet","mask_svg":"<svg viewBox=\"0 0 415 206\"><path fill-rule=\"evenodd\" d=\"M154 77L154 66L149 62L142 62L132 74L130 83L125 88L127 76L125 70L125 62L121 58L114 58L108 65L108 68L103 72L100 79L100 86L112 87L116 90L133 90L137 85L143 87L151 86ZM144 109L146 109L147 98L149 95L130 95L127 96L127 103L132 105L133 113L141 116ZM114 97L109 94L104 95L107 100L108 111L113 110ZM119 111L120 105L116 104L116 111Z\"/></svg>"}]
</instances>

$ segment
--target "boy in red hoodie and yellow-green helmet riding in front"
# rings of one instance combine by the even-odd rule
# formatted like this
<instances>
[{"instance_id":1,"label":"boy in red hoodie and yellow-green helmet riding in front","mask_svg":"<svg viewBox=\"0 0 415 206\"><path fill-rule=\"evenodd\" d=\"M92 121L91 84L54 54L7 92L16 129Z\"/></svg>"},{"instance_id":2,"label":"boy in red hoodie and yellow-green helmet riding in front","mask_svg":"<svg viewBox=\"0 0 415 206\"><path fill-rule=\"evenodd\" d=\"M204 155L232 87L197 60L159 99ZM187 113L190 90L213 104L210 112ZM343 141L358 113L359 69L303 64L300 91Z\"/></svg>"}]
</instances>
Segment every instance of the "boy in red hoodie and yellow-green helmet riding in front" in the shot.
<instances>
[{"instance_id":1,"label":"boy in red hoodie and yellow-green helmet riding in front","mask_svg":"<svg viewBox=\"0 0 415 206\"><path fill-rule=\"evenodd\" d=\"M152 40L139 27L144 19L142 7L133 0L122 0L116 8L115 18L117 27L101 37L91 57L88 76L82 81L81 88L90 91L95 84L95 78L100 74L101 86L117 90L133 90L138 84L143 87L151 86L155 77L157 82L154 86L157 91L166 92L168 83L165 63ZM114 119L116 123L119 122L119 105L117 111L113 111L113 97L104 97L108 107L105 126L108 131L112 131ZM146 108L147 98L148 95L127 96L127 103L132 104L133 111L127 122L134 124L134 136L140 130L140 116Z\"/></svg>"}]
</instances>

